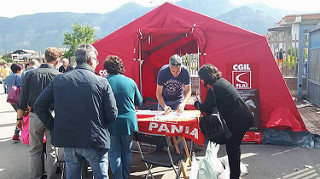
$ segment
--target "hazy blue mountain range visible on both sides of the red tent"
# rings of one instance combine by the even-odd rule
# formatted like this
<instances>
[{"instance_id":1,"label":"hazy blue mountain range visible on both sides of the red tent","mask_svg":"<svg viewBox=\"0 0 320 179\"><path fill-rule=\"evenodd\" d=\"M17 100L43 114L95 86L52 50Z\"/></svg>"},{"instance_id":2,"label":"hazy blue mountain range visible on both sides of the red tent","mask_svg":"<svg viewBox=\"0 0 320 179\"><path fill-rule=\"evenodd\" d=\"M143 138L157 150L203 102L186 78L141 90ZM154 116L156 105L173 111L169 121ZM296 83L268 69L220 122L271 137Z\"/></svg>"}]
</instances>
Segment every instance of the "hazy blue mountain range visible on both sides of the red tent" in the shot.
<instances>
[{"instance_id":1,"label":"hazy blue mountain range visible on both sides of the red tent","mask_svg":"<svg viewBox=\"0 0 320 179\"><path fill-rule=\"evenodd\" d=\"M259 34L265 34L285 14L261 4L233 6L229 0L181 0L176 4ZM44 52L49 46L63 47L63 33L72 31L72 22L90 25L96 30L96 38L103 38L154 8L131 2L106 14L56 12L0 17L0 54L16 49Z\"/></svg>"}]
</instances>

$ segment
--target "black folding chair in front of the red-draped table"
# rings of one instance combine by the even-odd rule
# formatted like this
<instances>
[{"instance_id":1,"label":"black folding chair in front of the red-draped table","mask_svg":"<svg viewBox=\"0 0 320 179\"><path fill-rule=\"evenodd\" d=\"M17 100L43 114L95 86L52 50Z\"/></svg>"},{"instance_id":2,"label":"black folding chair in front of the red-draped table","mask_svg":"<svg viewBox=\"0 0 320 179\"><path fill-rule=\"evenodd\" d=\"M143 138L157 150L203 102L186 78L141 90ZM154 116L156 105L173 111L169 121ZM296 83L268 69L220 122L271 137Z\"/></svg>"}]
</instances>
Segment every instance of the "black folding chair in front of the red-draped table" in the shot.
<instances>
[{"instance_id":1,"label":"black folding chair in front of the red-draped table","mask_svg":"<svg viewBox=\"0 0 320 179\"><path fill-rule=\"evenodd\" d=\"M177 154L177 153L171 153L169 149L169 137L166 137L165 135L159 135L159 134L150 134L150 133L144 133L139 131L133 132L134 137L138 143L138 149L141 156L141 161L143 161L148 169L148 173L146 175L146 178L151 175L152 178L152 165L155 166L163 166L163 167L172 167L174 172L176 173L176 178L179 178L181 173L181 166L182 166L182 159L184 157L184 154ZM165 148L165 151L159 151L156 150L154 152L151 152L150 154L144 154L141 150L140 143L148 143L152 145L162 145ZM175 164L178 167L178 170L175 168Z\"/></svg>"}]
</instances>

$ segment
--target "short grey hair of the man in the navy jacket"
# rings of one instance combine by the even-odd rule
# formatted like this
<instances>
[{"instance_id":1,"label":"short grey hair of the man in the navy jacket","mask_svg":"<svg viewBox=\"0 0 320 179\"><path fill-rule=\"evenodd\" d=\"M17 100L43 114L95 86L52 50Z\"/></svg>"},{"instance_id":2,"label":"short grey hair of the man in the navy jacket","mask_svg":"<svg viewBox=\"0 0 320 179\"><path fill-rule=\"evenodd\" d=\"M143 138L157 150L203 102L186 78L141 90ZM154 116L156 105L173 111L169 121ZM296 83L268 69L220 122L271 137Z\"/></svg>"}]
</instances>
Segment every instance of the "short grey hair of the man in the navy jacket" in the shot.
<instances>
[{"instance_id":1,"label":"short grey hair of the man in the navy jacket","mask_svg":"<svg viewBox=\"0 0 320 179\"><path fill-rule=\"evenodd\" d=\"M77 64L89 63L90 58L96 58L98 52L91 44L81 44L77 47L75 55Z\"/></svg>"}]
</instances>

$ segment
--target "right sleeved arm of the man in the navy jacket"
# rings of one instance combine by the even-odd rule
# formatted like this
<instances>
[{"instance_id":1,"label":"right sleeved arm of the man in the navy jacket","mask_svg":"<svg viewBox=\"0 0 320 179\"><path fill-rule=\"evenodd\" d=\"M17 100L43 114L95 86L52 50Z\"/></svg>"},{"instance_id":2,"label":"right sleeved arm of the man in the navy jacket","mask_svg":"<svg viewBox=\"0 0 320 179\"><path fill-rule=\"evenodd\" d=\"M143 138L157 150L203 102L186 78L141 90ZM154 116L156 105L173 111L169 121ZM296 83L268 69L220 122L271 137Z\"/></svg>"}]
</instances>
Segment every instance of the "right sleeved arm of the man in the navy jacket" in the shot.
<instances>
[{"instance_id":1,"label":"right sleeved arm of the man in the navy jacket","mask_svg":"<svg viewBox=\"0 0 320 179\"><path fill-rule=\"evenodd\" d=\"M107 80L105 80L103 92L103 114L105 124L116 120L118 116L118 108L112 88Z\"/></svg>"}]
</instances>

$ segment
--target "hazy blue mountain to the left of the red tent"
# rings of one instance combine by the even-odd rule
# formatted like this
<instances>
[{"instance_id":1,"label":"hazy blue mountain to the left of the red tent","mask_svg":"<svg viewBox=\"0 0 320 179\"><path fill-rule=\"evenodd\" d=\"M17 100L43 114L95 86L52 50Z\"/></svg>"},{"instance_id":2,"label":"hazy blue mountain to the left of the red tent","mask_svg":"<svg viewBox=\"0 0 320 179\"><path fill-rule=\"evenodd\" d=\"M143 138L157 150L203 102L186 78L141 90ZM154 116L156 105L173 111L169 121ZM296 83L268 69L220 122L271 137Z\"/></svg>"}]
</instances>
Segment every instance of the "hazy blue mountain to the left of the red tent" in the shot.
<instances>
[{"instance_id":1,"label":"hazy blue mountain to the left of the red tent","mask_svg":"<svg viewBox=\"0 0 320 179\"><path fill-rule=\"evenodd\" d=\"M137 17L147 13L136 3L127 3L106 13L38 13L14 18L0 18L0 54L16 49L44 51L49 46L63 47L63 33L71 32L72 22L95 28L95 36L102 38Z\"/></svg>"}]
</instances>

